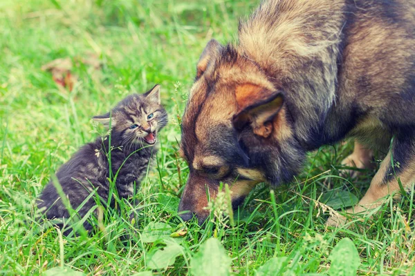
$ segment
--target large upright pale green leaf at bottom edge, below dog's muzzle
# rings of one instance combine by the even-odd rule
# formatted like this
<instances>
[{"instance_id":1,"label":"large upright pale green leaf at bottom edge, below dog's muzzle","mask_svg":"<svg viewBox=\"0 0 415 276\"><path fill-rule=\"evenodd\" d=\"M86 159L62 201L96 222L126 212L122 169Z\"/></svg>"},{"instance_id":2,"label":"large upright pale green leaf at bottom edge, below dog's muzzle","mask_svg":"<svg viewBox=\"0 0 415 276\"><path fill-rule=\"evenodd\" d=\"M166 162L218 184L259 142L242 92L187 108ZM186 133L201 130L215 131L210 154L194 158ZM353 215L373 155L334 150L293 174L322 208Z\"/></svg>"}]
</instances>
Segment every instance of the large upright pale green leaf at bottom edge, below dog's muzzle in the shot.
<instances>
[{"instance_id":1,"label":"large upright pale green leaf at bottom edge, below dog's muzzle","mask_svg":"<svg viewBox=\"0 0 415 276\"><path fill-rule=\"evenodd\" d=\"M194 276L227 276L230 275L231 263L221 242L211 237L190 259L190 271Z\"/></svg>"}]
</instances>

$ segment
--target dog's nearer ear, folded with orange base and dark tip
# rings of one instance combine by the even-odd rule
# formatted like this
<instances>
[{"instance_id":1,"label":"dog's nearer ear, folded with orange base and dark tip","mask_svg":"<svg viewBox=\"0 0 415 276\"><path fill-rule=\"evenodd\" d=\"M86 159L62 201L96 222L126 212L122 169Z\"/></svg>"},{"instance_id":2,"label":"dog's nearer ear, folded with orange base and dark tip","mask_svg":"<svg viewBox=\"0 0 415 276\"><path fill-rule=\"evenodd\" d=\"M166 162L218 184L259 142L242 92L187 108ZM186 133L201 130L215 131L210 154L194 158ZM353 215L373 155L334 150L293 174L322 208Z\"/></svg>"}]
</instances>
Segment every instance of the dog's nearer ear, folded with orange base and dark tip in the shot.
<instances>
[{"instance_id":1,"label":"dog's nearer ear, folded with orange base and dark tip","mask_svg":"<svg viewBox=\"0 0 415 276\"><path fill-rule=\"evenodd\" d=\"M268 137L273 131L272 121L284 103L282 92L245 83L237 86L235 97L238 108L232 119L234 128L241 130L250 124L256 135Z\"/></svg>"}]
</instances>

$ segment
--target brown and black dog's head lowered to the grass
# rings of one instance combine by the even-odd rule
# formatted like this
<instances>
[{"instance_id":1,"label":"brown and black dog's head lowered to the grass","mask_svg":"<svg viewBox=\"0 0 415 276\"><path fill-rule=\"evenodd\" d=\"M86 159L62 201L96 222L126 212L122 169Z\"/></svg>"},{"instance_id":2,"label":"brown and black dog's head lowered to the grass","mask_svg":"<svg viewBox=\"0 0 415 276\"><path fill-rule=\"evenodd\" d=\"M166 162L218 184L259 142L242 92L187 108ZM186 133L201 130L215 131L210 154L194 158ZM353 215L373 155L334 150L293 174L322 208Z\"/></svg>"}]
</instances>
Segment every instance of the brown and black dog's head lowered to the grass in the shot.
<instances>
[{"instance_id":1,"label":"brown and black dog's head lowered to the grass","mask_svg":"<svg viewBox=\"0 0 415 276\"><path fill-rule=\"evenodd\" d=\"M189 211L183 219L204 221L208 195L215 197L220 182L229 184L237 207L259 182L279 181L280 141L292 136L286 117L278 81L237 48L210 41L182 120L181 156L190 168L179 206Z\"/></svg>"}]
</instances>

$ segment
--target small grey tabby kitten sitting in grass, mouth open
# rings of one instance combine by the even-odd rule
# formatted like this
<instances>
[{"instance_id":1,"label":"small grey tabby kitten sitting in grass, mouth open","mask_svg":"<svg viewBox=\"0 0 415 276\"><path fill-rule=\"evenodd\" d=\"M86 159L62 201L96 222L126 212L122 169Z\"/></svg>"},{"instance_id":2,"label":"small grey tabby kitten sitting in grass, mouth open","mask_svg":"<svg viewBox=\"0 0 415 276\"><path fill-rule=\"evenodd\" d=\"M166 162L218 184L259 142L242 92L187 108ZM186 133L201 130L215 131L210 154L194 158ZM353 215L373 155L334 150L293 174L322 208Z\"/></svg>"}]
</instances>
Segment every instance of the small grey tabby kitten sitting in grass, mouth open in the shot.
<instances>
[{"instance_id":1,"label":"small grey tabby kitten sitting in grass, mouth open","mask_svg":"<svg viewBox=\"0 0 415 276\"><path fill-rule=\"evenodd\" d=\"M90 193L95 193L95 189L105 205L110 193L108 179L116 180L116 190L120 199L129 199L134 195L134 188L138 188L151 157L156 155L157 149L154 145L157 134L167 124L167 112L160 105L160 86L154 86L143 95L129 95L120 101L111 113L93 119L105 126L111 125L109 135L98 137L95 142L83 146L56 174L73 210L76 210ZM90 197L78 211L81 218L96 205L94 197ZM47 219L69 217L52 180L38 197L37 206L42 208ZM61 224L58 226L62 227ZM84 223L84 227L86 230L92 229L88 222Z\"/></svg>"}]
</instances>

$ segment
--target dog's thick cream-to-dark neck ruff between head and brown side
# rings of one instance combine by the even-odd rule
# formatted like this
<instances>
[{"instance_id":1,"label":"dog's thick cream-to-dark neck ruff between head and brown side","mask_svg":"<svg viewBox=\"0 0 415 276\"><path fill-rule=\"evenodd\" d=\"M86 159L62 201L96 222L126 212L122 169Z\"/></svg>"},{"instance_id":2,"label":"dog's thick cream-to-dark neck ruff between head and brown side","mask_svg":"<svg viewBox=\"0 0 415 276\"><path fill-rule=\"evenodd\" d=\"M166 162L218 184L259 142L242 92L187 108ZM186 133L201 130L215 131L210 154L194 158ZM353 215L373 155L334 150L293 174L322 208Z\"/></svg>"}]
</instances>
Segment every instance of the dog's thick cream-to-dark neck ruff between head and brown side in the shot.
<instances>
[{"instance_id":1,"label":"dog's thick cream-to-dark neck ruff between head and brown side","mask_svg":"<svg viewBox=\"0 0 415 276\"><path fill-rule=\"evenodd\" d=\"M340 0L264 1L239 26L239 52L282 83L295 134L305 144L335 104L344 6Z\"/></svg>"}]
</instances>

